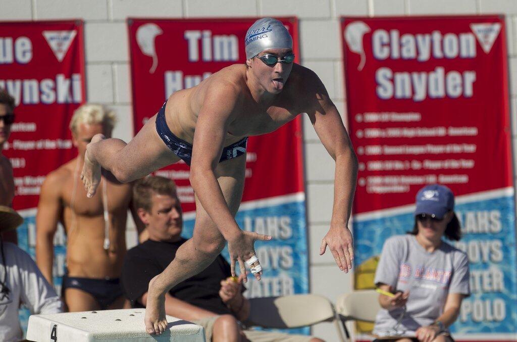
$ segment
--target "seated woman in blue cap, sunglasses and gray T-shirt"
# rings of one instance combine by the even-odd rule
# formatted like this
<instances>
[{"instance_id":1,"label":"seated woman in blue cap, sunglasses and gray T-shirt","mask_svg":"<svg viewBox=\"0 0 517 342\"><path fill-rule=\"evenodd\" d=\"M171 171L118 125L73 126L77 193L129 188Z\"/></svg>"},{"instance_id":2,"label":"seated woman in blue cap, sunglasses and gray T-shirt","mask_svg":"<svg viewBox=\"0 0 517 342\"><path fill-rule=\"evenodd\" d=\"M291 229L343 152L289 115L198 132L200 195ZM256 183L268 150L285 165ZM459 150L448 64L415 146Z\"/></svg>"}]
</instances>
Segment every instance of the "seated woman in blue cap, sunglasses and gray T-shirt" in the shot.
<instances>
[{"instance_id":1,"label":"seated woman in blue cap, sunglasses and gray T-shirt","mask_svg":"<svg viewBox=\"0 0 517 342\"><path fill-rule=\"evenodd\" d=\"M444 185L428 185L417 193L413 230L384 243L375 285L394 296L379 294L375 341L453 341L448 327L470 295L468 258L443 236L461 238L454 195Z\"/></svg>"}]
</instances>

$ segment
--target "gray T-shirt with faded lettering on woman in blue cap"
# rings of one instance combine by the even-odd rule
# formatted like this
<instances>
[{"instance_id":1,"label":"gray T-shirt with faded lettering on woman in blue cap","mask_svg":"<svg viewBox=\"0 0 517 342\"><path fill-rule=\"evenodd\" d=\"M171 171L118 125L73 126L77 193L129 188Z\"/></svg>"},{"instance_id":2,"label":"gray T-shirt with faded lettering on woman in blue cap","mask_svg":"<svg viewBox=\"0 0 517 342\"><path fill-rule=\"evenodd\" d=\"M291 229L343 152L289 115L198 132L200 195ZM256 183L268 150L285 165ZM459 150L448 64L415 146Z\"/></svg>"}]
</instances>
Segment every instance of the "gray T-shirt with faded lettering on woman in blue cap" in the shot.
<instances>
[{"instance_id":1,"label":"gray T-shirt with faded lettering on woman in blue cap","mask_svg":"<svg viewBox=\"0 0 517 342\"><path fill-rule=\"evenodd\" d=\"M375 284L390 285L396 291L409 290L406 313L397 331L416 331L432 324L443 313L449 293L470 295L468 258L465 252L445 241L428 252L412 234L392 236L384 243L375 273ZM403 308L381 309L374 334L395 335Z\"/></svg>"}]
</instances>

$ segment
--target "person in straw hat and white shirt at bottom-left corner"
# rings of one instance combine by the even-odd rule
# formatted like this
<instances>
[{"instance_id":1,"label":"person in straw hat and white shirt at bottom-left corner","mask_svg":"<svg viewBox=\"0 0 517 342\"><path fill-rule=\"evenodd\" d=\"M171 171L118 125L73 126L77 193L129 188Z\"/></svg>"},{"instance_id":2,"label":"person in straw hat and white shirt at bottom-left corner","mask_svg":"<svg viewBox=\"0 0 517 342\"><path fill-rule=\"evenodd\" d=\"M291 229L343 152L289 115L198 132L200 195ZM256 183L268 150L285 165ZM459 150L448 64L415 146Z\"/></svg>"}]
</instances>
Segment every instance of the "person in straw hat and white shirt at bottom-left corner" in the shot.
<instances>
[{"instance_id":1,"label":"person in straw hat and white shirt at bottom-left corner","mask_svg":"<svg viewBox=\"0 0 517 342\"><path fill-rule=\"evenodd\" d=\"M10 207L0 205L0 233L16 229L23 219ZM63 303L45 280L34 260L0 235L0 340L18 341L22 330L18 309L23 303L32 314L63 312Z\"/></svg>"}]
</instances>

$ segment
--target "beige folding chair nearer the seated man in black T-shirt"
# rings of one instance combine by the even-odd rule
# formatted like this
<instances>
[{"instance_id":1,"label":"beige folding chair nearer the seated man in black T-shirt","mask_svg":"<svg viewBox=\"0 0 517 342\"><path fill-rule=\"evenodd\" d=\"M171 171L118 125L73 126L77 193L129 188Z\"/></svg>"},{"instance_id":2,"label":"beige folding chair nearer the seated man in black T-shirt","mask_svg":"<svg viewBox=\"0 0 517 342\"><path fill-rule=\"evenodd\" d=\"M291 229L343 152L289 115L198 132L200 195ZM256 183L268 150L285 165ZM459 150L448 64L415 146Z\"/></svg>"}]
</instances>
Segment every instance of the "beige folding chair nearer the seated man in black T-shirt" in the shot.
<instances>
[{"instance_id":1,"label":"beige folding chair nearer the seated man in black T-shirt","mask_svg":"<svg viewBox=\"0 0 517 342\"><path fill-rule=\"evenodd\" d=\"M339 339L344 341L332 303L316 294L250 299L250 316L246 324L262 328L286 329L321 322L336 324Z\"/></svg>"}]
</instances>

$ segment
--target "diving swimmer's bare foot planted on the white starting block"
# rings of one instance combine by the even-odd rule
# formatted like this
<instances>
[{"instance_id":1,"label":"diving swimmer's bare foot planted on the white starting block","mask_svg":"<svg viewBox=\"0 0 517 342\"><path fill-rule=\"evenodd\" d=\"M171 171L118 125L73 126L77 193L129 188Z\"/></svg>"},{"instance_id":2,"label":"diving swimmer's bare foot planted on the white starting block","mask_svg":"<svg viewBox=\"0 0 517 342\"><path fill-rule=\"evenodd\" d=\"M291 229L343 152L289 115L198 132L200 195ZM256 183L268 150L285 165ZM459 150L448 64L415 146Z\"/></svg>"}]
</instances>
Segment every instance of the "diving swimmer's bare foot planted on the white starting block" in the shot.
<instances>
[{"instance_id":1,"label":"diving swimmer's bare foot planted on the white starting block","mask_svg":"<svg viewBox=\"0 0 517 342\"><path fill-rule=\"evenodd\" d=\"M165 297L156 293L155 283L157 275L149 281L147 290L147 303L145 305L145 331L150 335L161 335L167 329L167 319L165 318Z\"/></svg>"}]
</instances>

